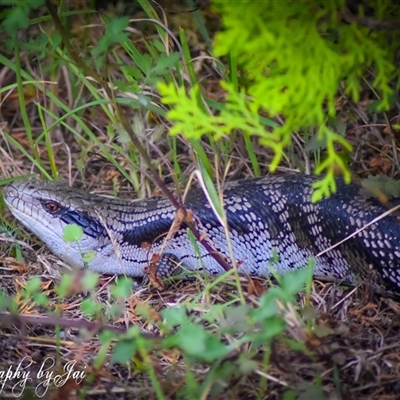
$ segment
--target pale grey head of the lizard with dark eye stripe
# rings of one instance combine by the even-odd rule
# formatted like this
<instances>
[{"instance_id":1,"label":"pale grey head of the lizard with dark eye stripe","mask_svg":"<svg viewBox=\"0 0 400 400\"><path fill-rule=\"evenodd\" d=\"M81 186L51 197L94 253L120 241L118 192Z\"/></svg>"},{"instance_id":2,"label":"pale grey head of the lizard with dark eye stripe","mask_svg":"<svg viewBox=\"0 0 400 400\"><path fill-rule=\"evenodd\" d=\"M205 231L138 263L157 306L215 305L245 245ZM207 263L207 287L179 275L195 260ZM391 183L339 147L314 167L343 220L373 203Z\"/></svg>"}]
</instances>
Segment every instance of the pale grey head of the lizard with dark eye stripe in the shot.
<instances>
[{"instance_id":1,"label":"pale grey head of the lizard with dark eye stripe","mask_svg":"<svg viewBox=\"0 0 400 400\"><path fill-rule=\"evenodd\" d=\"M91 196L54 181L21 180L3 188L12 214L73 268L82 268L83 255L95 251L107 235ZM69 224L82 228L83 235L75 242L64 238Z\"/></svg>"}]
</instances>

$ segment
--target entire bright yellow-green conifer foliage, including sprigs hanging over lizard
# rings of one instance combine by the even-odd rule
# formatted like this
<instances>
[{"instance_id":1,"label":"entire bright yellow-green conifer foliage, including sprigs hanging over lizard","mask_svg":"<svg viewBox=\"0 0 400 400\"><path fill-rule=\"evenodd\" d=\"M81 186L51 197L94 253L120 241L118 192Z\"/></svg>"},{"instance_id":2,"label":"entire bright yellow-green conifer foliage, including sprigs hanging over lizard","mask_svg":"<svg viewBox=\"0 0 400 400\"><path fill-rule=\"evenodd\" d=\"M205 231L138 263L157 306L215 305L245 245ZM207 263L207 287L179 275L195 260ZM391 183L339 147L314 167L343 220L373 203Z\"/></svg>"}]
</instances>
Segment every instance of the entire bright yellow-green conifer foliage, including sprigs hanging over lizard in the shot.
<instances>
[{"instance_id":1,"label":"entire bright yellow-green conifer foliage, including sprigs hanging over lizard","mask_svg":"<svg viewBox=\"0 0 400 400\"><path fill-rule=\"evenodd\" d=\"M376 13L374 21L396 21L396 14L399 20L399 10L391 9L390 2L369 3ZM240 129L246 135L257 135L274 150L274 170L284 147L291 143L291 134L312 129L327 154L316 172L328 175L314 199L335 189L334 172L341 171L348 181L346 157L337 154L335 147L340 144L351 151L351 146L327 120L336 114L340 85L357 101L369 71L375 77L371 86L380 96L380 110L389 107L394 93L390 84L399 77L394 58L400 30L371 29L364 22L362 8L361 22L344 21L347 11L341 0L237 1L234 6L214 1L214 8L225 28L216 36L214 51L237 59L240 93L235 82L222 81L226 109L210 115L199 104L198 88L186 95L183 88L160 85L163 101L172 106L168 114L174 124L172 133L192 138L213 134L218 139ZM268 131L260 123L260 114L280 115L284 124Z\"/></svg>"}]
</instances>

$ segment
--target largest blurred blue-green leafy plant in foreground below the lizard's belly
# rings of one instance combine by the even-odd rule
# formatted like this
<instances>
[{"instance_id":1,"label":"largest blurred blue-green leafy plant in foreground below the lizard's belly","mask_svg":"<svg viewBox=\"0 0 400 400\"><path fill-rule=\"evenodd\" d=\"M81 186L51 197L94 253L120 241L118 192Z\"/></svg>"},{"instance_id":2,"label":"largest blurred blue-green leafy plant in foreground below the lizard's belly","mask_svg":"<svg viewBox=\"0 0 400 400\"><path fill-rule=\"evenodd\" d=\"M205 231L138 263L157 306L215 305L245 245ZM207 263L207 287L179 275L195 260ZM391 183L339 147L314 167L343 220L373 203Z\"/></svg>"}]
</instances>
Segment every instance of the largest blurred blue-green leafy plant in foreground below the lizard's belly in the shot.
<instances>
[{"instance_id":1,"label":"largest blurred blue-green leafy plant in foreground below the lizard's belly","mask_svg":"<svg viewBox=\"0 0 400 400\"><path fill-rule=\"evenodd\" d=\"M248 304L218 304L209 306L199 316L192 313L199 307L195 302L165 308L161 311L162 323L153 321L160 326L164 337L156 342L146 340L137 327L132 327L126 335L119 337L120 342L113 350L112 360L124 364L138 356L142 360L148 359L152 352L162 356L163 351L178 349L189 375L190 367L197 363L212 366L201 382L188 377L188 385L181 388L180 395L186 397L196 393L204 398L216 395L222 390L219 381L229 381L256 370L268 370L268 357L264 357L264 364L254 361L255 356L261 349L269 354L273 341L285 332L286 313L293 312L292 305L297 292L309 285L309 268L279 277L279 280L280 285L271 287L262 295L256 307ZM148 306L140 310L151 320L153 313ZM294 317L302 321L300 314ZM300 325L303 325L306 337L306 326L303 322ZM228 337L230 339L226 340ZM103 346L109 348L111 340L112 336L105 334L102 337ZM296 348L307 352L304 345L299 347L301 344L294 344ZM242 349L247 351L243 352ZM101 353L103 356L100 358L104 360L106 352ZM147 371L153 371L153 364L147 365Z\"/></svg>"}]
</instances>

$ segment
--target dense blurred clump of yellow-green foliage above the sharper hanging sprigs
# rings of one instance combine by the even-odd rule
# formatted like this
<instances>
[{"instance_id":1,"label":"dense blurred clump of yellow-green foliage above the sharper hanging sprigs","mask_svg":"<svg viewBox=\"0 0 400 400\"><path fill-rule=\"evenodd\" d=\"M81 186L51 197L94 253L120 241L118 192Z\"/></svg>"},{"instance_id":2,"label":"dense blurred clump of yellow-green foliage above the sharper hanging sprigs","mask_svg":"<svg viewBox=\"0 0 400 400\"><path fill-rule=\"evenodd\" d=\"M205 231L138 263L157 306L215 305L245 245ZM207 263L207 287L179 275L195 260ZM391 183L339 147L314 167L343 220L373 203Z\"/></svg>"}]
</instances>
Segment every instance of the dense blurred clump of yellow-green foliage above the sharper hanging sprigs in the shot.
<instances>
[{"instance_id":1,"label":"dense blurred clump of yellow-green foliage above the sharper hanging sprigs","mask_svg":"<svg viewBox=\"0 0 400 400\"><path fill-rule=\"evenodd\" d=\"M322 125L326 115L335 114L340 81L357 101L360 76L371 66L374 86L386 99L392 93L394 53L369 28L340 21L344 3L241 1L230 7L215 2L226 26L215 51L237 54L257 109L283 114L292 126Z\"/></svg>"}]
</instances>

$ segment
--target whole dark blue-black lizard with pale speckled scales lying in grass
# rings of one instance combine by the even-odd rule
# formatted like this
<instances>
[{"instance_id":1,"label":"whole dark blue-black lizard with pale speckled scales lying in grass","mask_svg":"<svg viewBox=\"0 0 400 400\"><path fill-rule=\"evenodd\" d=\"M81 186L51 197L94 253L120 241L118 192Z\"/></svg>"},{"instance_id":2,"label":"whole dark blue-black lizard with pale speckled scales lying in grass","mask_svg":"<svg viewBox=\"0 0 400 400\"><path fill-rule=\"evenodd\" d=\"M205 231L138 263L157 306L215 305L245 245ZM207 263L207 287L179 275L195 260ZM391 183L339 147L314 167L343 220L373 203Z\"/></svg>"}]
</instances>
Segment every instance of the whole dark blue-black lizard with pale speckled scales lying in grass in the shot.
<instances>
[{"instance_id":1,"label":"whole dark blue-black lizard with pale speckled scales lying in grass","mask_svg":"<svg viewBox=\"0 0 400 400\"><path fill-rule=\"evenodd\" d=\"M336 194L313 204L311 185L317 179L291 174L224 186L230 239L241 272L268 276L271 267L282 274L302 268L310 257L387 211L378 201L364 198L357 185L345 185L342 180L337 181ZM165 198L109 199L42 181L8 185L4 198L13 214L72 266L83 267L81 254L94 251L89 268L101 273L143 276L153 254L171 256L189 270L223 272L201 244L193 245L184 224L165 240L175 217L174 207ZM55 211L46 208L49 202L57 205ZM224 230L202 191L190 191L185 206L194 212L199 231L229 257ZM82 226L84 235L77 244L62 238L69 223ZM397 212L318 257L315 275L354 283L369 276L369 266L373 266L377 290L400 292L399 238ZM272 261L275 251L278 262Z\"/></svg>"}]
</instances>

